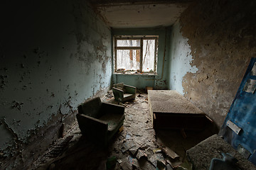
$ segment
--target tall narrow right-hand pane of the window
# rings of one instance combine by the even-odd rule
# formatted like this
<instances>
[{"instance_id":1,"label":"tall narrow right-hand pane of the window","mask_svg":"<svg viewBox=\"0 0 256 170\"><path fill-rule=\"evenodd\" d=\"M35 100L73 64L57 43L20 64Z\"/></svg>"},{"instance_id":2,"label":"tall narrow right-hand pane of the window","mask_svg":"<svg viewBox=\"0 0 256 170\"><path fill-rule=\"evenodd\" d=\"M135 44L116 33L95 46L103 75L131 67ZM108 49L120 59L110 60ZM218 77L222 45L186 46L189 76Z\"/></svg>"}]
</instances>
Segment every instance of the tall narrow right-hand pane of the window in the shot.
<instances>
[{"instance_id":1,"label":"tall narrow right-hand pane of the window","mask_svg":"<svg viewBox=\"0 0 256 170\"><path fill-rule=\"evenodd\" d=\"M143 40L142 72L154 72L156 40Z\"/></svg>"}]
</instances>

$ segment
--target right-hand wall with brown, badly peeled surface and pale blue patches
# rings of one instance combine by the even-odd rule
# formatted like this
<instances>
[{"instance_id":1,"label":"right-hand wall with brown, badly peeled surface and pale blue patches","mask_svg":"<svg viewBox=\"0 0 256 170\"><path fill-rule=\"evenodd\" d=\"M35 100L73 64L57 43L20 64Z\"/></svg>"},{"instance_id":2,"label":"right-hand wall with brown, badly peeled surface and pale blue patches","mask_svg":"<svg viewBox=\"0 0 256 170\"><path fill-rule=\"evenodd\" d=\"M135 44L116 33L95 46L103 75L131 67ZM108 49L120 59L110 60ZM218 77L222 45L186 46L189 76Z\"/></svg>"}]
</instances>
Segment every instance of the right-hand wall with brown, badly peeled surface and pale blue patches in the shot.
<instances>
[{"instance_id":1,"label":"right-hand wall with brown, badly peeled surface and pale blue patches","mask_svg":"<svg viewBox=\"0 0 256 170\"><path fill-rule=\"evenodd\" d=\"M176 25L172 32L186 51L172 55L171 66L186 69L186 74L171 72L169 87L178 89L182 83L178 91L213 118L218 128L256 54L255 7L255 1L196 1L181 14L181 29ZM182 37L176 35L179 32ZM186 64L180 64L182 58Z\"/></svg>"}]
</instances>

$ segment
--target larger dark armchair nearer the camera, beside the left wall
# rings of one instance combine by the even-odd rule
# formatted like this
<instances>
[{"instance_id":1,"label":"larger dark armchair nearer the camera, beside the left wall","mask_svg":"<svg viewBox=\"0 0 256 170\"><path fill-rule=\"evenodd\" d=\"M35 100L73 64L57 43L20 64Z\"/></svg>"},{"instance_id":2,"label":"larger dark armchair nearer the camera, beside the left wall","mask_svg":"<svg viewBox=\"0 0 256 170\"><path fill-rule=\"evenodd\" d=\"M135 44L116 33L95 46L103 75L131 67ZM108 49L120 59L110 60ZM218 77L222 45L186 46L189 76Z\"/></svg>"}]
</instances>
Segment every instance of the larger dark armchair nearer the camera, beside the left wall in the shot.
<instances>
[{"instance_id":1,"label":"larger dark armchair nearer the camera, beside the left wall","mask_svg":"<svg viewBox=\"0 0 256 170\"><path fill-rule=\"evenodd\" d=\"M82 135L106 146L124 123L124 107L102 103L97 97L80 104L76 116Z\"/></svg>"}]
</instances>

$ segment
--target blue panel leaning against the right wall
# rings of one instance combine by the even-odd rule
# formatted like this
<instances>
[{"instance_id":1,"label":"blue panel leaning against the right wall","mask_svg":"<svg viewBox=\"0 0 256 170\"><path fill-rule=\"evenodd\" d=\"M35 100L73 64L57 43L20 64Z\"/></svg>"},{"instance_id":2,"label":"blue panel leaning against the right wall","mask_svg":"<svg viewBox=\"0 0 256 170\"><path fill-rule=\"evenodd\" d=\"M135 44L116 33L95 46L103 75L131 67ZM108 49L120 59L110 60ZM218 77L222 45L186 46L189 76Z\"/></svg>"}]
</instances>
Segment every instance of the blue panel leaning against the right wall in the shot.
<instances>
[{"instance_id":1,"label":"blue panel leaning against the right wall","mask_svg":"<svg viewBox=\"0 0 256 170\"><path fill-rule=\"evenodd\" d=\"M252 94L245 92L243 89L248 79L252 79L252 81L256 79L256 76L252 74L252 67L255 62L256 58L252 58L220 130L220 135L223 135L224 140L229 142L235 149L238 148L238 145L241 145L251 153L249 160L253 164L256 163L256 92ZM228 128L226 125L228 120L242 129L238 135Z\"/></svg>"}]
</instances>

